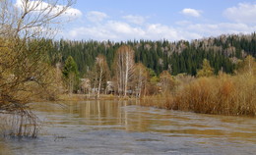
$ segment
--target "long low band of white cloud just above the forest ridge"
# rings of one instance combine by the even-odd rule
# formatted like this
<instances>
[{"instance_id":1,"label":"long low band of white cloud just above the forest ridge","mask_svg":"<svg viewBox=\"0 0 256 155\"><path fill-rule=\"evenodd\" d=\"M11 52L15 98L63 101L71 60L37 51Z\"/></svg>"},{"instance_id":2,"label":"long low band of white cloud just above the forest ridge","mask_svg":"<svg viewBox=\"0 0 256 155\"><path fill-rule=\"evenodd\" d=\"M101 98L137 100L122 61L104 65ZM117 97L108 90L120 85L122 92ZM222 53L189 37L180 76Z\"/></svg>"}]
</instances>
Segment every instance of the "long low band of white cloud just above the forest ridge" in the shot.
<instances>
[{"instance_id":1,"label":"long low band of white cloud just above the forest ridge","mask_svg":"<svg viewBox=\"0 0 256 155\"><path fill-rule=\"evenodd\" d=\"M180 39L191 40L202 37L219 36L221 34L251 33L256 26L245 24L188 24L184 26L166 26L161 24L145 24L144 26L132 26L118 21L106 21L96 26L80 26L72 28L64 33L68 39L96 39L126 41L133 39L176 41Z\"/></svg>"}]
</instances>

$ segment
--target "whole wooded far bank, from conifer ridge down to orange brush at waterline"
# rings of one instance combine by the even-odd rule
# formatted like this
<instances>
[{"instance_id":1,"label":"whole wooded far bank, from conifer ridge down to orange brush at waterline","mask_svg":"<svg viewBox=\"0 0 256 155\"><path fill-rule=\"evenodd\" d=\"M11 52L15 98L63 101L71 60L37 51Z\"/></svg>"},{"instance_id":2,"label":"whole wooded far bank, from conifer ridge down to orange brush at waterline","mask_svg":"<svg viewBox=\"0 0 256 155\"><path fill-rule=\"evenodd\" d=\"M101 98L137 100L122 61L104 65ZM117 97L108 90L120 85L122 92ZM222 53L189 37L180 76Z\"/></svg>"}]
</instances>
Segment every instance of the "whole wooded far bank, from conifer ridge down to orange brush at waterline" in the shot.
<instances>
[{"instance_id":1,"label":"whole wooded far bank, from conifer ridge down to orange brush at waterline","mask_svg":"<svg viewBox=\"0 0 256 155\"><path fill-rule=\"evenodd\" d=\"M63 76L61 93L82 93L97 99L102 94L157 97L164 99L164 104L151 106L255 115L255 40L253 32L190 42L45 42L49 62L54 68L57 64Z\"/></svg>"}]
</instances>

